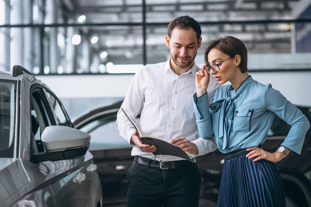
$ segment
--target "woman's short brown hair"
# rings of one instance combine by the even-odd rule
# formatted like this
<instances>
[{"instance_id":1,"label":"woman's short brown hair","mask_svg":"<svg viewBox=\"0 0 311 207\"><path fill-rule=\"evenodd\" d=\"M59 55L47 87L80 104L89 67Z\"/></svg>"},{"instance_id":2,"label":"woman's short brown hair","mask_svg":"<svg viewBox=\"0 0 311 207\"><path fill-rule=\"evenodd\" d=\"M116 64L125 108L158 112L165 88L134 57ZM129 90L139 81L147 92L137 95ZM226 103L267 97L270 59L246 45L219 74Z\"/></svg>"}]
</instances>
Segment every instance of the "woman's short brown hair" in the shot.
<instances>
[{"instance_id":1,"label":"woman's short brown hair","mask_svg":"<svg viewBox=\"0 0 311 207\"><path fill-rule=\"evenodd\" d=\"M233 36L224 36L210 41L204 52L205 63L208 64L207 54L211 49L217 49L221 52L234 57L235 55L241 56L240 68L241 72L247 71L247 49L242 41Z\"/></svg>"}]
</instances>

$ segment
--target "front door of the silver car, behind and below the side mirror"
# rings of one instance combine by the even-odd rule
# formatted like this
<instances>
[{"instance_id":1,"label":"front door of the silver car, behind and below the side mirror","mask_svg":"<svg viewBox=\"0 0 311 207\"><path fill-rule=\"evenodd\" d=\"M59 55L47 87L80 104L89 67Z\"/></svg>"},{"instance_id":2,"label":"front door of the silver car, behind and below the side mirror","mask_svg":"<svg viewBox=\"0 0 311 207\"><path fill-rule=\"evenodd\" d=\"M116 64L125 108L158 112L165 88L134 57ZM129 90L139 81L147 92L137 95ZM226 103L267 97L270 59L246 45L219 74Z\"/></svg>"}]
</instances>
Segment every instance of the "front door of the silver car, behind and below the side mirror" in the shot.
<instances>
[{"instance_id":1,"label":"front door of the silver car, behind and below the side mirror","mask_svg":"<svg viewBox=\"0 0 311 207\"><path fill-rule=\"evenodd\" d=\"M31 116L31 129L36 142L34 145L36 148L33 146L32 151L43 152L41 134L44 128L58 123L55 121L44 89L40 86L31 89ZM50 185L56 206L87 206L87 200L83 199L82 181L77 181L77 175L80 175L80 168L83 168L83 165L84 157L44 161L38 164L45 176L45 183Z\"/></svg>"}]
</instances>

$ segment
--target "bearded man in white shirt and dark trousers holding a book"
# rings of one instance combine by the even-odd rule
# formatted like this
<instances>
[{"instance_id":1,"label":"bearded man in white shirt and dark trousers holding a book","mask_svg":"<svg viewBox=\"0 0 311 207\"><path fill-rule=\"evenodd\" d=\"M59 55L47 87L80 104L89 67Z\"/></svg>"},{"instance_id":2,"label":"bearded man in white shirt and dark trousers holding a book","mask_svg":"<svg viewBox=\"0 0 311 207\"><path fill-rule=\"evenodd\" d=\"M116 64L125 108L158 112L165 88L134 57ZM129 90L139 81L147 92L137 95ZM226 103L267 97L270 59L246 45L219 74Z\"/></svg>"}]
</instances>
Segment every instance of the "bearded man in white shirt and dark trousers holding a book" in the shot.
<instances>
[{"instance_id":1,"label":"bearded man in white shirt and dark trousers holding a book","mask_svg":"<svg viewBox=\"0 0 311 207\"><path fill-rule=\"evenodd\" d=\"M179 146L192 161L168 155L155 157L152 152L156 147L143 144L119 110L118 130L134 146L135 156L128 169L128 207L198 206L201 176L195 156L216 149L215 140L198 138L192 103L195 74L200 70L194 63L202 41L200 24L189 16L178 17L169 23L165 40L171 57L137 72L121 107L134 120L141 114L145 134ZM210 103L219 86L211 77L207 91Z\"/></svg>"}]
</instances>

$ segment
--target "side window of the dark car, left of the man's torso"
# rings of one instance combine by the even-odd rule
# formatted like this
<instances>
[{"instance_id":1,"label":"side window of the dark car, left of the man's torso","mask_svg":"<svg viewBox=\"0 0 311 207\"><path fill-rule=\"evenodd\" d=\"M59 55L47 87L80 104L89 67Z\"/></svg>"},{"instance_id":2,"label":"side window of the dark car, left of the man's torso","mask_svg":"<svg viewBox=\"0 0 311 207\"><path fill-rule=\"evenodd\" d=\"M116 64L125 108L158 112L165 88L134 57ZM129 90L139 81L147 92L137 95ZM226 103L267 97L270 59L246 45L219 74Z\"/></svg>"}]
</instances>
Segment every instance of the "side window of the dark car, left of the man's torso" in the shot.
<instances>
[{"instance_id":1,"label":"side window of the dark car, left of the man's torso","mask_svg":"<svg viewBox=\"0 0 311 207\"><path fill-rule=\"evenodd\" d=\"M140 127L140 118L136 118L135 122ZM119 135L115 117L97 119L80 130L91 134L90 150L131 147L128 141Z\"/></svg>"}]
</instances>

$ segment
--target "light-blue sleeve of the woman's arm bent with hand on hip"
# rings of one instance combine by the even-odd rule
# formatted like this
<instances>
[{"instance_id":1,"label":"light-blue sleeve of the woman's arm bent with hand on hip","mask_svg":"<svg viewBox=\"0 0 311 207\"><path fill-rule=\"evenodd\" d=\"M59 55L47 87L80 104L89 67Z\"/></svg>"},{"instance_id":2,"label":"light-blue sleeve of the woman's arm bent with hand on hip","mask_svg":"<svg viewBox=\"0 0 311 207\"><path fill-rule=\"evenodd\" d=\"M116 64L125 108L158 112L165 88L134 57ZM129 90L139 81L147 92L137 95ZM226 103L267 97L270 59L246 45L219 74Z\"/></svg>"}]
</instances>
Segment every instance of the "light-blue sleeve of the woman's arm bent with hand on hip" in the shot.
<instances>
[{"instance_id":1,"label":"light-blue sleeve of the woman's arm bent with hand on hip","mask_svg":"<svg viewBox=\"0 0 311 207\"><path fill-rule=\"evenodd\" d=\"M266 85L264 101L265 106L269 111L274 112L286 123L291 125L290 131L281 145L300 155L304 143L304 137L310 127L308 119L279 91L273 89L271 84Z\"/></svg>"}]
</instances>

